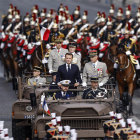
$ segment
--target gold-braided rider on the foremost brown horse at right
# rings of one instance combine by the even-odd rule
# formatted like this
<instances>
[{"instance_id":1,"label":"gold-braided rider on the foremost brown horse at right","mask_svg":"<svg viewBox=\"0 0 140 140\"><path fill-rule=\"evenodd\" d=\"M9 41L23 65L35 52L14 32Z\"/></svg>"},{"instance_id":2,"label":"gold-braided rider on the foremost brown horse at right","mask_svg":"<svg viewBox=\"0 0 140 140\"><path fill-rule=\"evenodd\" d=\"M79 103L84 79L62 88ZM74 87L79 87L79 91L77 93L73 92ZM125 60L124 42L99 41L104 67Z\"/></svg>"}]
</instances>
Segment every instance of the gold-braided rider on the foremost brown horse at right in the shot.
<instances>
[{"instance_id":1,"label":"gold-braided rider on the foremost brown horse at right","mask_svg":"<svg viewBox=\"0 0 140 140\"><path fill-rule=\"evenodd\" d=\"M128 24L128 29L126 29L124 31L124 39L121 39L119 41L119 46L118 49L121 51L125 51L126 55L128 56L128 58L130 59L130 61L132 62L132 64L135 64L135 68L136 68L136 74L138 77L137 83L140 83L140 65L139 65L139 61L135 60L135 58L132 55L135 55L135 52L137 50L137 46L136 46L136 40L130 38L130 23ZM116 62L114 64L114 69L113 69L113 76L110 78L112 81L115 81L115 75L116 75L116 70L118 68L118 63Z\"/></svg>"}]
</instances>

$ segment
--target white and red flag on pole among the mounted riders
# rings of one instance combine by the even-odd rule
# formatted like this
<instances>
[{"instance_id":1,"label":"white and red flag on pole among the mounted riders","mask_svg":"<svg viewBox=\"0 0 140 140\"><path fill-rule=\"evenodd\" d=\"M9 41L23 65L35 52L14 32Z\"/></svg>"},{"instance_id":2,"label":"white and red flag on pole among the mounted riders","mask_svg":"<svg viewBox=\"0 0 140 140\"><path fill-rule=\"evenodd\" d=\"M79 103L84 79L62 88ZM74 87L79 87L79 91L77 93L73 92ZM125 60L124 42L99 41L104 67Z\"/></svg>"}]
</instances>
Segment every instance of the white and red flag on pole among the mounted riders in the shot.
<instances>
[{"instance_id":1,"label":"white and red flag on pole among the mounted riders","mask_svg":"<svg viewBox=\"0 0 140 140\"><path fill-rule=\"evenodd\" d=\"M41 33L41 40L48 41L50 30L45 27L42 27L40 33Z\"/></svg>"}]
</instances>

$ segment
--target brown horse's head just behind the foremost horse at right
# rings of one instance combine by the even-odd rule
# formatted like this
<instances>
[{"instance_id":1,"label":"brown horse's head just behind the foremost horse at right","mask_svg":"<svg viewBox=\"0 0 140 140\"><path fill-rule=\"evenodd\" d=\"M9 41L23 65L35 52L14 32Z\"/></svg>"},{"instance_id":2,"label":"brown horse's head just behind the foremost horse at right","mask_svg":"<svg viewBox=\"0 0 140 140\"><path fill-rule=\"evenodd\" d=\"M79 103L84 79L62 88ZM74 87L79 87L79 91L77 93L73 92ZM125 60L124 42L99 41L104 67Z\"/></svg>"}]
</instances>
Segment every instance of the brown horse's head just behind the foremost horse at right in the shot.
<instances>
[{"instance_id":1,"label":"brown horse's head just behind the foremost horse at right","mask_svg":"<svg viewBox=\"0 0 140 140\"><path fill-rule=\"evenodd\" d=\"M113 63L115 63L117 59L117 54L118 54L118 45L113 44L109 47L109 57Z\"/></svg>"}]
</instances>

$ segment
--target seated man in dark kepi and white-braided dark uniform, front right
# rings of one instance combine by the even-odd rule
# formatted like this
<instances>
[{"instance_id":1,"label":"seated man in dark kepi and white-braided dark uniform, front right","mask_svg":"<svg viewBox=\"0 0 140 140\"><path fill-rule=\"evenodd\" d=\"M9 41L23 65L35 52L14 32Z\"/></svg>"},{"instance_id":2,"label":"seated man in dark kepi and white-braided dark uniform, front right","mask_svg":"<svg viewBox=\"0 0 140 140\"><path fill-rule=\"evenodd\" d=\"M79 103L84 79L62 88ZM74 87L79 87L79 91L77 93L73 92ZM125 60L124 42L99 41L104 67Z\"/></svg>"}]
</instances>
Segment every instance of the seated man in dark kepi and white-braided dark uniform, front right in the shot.
<instances>
[{"instance_id":1,"label":"seated man in dark kepi and white-braided dark uniform, front right","mask_svg":"<svg viewBox=\"0 0 140 140\"><path fill-rule=\"evenodd\" d=\"M91 77L91 88L84 90L83 99L94 99L96 97L107 98L107 90L105 88L98 87L98 77Z\"/></svg>"}]
</instances>

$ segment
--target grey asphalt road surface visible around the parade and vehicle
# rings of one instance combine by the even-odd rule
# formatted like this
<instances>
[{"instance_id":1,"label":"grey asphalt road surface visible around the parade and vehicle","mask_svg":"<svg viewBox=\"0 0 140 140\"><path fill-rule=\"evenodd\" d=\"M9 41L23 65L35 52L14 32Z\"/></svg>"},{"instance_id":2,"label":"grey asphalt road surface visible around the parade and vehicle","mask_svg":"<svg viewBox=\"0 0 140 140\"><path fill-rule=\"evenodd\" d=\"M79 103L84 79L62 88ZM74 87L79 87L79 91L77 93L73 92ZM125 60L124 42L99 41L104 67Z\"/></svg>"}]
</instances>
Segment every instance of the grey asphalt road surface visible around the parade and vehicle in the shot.
<instances>
[{"instance_id":1,"label":"grey asphalt road surface visible around the parade and vehicle","mask_svg":"<svg viewBox=\"0 0 140 140\"><path fill-rule=\"evenodd\" d=\"M88 10L88 20L90 23L94 23L94 19L98 11L108 13L110 8L109 0L0 0L0 24L2 22L1 15L6 15L9 8L9 4L12 3L20 9L21 15L25 16L26 12L30 12L33 5L37 4L39 9L47 8L49 11L51 8L56 9L63 3L69 7L70 13L72 13L77 5L81 7L81 15L83 11ZM115 13L117 9L122 6L118 0L114 0ZM132 15L136 12L135 6L132 7ZM117 90L117 88L116 88ZM118 90L117 90L118 91ZM118 96L118 95L117 95ZM0 120L5 121L5 128L9 128L9 135L12 136L11 128L11 107L16 101L16 95L12 90L11 83L6 83L3 76L3 66L0 62ZM140 125L140 90L136 90L133 98L133 119Z\"/></svg>"}]
</instances>

